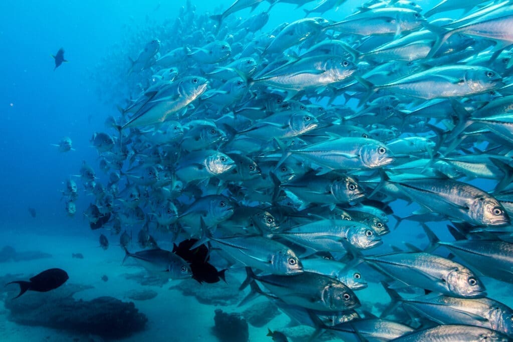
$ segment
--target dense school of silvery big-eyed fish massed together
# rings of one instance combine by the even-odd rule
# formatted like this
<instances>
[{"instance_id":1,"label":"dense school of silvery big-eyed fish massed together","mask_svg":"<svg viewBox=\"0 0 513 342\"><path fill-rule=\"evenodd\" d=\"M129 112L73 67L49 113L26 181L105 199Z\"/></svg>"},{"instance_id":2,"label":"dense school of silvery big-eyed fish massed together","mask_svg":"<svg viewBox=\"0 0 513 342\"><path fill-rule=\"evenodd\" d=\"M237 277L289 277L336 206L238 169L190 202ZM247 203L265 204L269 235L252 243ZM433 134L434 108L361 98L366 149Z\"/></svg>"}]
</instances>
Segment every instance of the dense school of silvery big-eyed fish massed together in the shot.
<instances>
[{"instance_id":1,"label":"dense school of silvery big-eyed fish massed together","mask_svg":"<svg viewBox=\"0 0 513 342\"><path fill-rule=\"evenodd\" d=\"M264 31L277 3L306 17ZM244 272L242 304L268 297L312 339L513 340L513 309L486 293L513 283L513 2L373 0L321 16L343 3L187 2L138 32L139 52L116 62L124 85L96 76L130 100L92 135L102 173L84 161L77 175L84 216L150 272ZM419 244L383 244L406 225ZM390 295L382 312L361 310L369 279Z\"/></svg>"}]
</instances>

